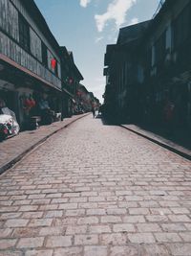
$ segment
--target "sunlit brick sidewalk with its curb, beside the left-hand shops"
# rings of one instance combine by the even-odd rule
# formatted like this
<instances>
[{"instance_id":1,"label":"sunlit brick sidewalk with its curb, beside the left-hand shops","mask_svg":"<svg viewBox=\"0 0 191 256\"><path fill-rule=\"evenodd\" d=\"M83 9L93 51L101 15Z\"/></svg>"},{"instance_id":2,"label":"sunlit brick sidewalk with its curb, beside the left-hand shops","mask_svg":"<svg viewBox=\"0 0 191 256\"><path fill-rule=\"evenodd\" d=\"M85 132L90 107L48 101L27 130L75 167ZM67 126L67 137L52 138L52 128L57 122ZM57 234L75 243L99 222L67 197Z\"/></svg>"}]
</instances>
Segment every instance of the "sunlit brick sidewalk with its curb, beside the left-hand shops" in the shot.
<instances>
[{"instance_id":1,"label":"sunlit brick sidewalk with its curb, beside the left-hand shops","mask_svg":"<svg viewBox=\"0 0 191 256\"><path fill-rule=\"evenodd\" d=\"M55 122L49 126L42 126L35 130L26 130L17 136L11 137L0 143L0 174L11 168L27 152L32 151L34 147L44 142L55 132L66 128L74 121L88 115L89 113L75 115L71 118L65 118L61 122Z\"/></svg>"}]
</instances>

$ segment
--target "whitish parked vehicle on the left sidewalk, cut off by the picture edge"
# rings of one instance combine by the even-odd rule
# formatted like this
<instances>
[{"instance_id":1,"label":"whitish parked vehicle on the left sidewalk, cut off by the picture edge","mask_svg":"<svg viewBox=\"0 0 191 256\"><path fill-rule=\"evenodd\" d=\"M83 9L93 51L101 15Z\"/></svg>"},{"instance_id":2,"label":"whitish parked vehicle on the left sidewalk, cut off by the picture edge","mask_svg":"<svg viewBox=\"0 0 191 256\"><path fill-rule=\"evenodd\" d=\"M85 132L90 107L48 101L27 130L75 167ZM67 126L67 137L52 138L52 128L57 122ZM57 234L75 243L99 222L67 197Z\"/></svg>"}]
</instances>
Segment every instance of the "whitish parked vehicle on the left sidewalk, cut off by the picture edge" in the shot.
<instances>
[{"instance_id":1,"label":"whitish parked vehicle on the left sidewalk, cut off by the picture edge","mask_svg":"<svg viewBox=\"0 0 191 256\"><path fill-rule=\"evenodd\" d=\"M8 107L2 107L0 109L0 141L18 134L19 129L14 112Z\"/></svg>"}]
</instances>

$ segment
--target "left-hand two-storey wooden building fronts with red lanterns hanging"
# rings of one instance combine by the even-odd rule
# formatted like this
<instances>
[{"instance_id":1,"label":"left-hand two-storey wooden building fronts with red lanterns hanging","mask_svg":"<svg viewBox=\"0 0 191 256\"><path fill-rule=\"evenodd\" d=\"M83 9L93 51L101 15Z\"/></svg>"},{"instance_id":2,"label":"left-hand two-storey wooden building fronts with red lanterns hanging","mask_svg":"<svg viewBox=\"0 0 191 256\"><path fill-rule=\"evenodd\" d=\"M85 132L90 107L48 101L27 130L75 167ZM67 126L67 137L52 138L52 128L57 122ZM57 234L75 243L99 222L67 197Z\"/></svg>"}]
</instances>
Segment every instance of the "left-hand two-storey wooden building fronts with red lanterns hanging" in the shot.
<instances>
[{"instance_id":1,"label":"left-hand two-storey wooden building fronts with red lanterns hanging","mask_svg":"<svg viewBox=\"0 0 191 256\"><path fill-rule=\"evenodd\" d=\"M71 116L81 80L73 53L58 45L33 0L0 0L0 99L21 128L45 104Z\"/></svg>"}]
</instances>

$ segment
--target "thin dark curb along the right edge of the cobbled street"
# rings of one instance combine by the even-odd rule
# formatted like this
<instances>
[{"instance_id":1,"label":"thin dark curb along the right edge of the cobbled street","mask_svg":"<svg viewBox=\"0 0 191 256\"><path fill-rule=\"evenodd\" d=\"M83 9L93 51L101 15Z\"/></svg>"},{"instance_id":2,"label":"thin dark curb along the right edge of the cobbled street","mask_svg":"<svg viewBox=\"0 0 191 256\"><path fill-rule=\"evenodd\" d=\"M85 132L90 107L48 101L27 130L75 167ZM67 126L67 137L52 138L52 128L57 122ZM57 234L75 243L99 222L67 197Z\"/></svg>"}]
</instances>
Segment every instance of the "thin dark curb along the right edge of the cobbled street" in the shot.
<instances>
[{"instance_id":1,"label":"thin dark curb along the right edge of the cobbled street","mask_svg":"<svg viewBox=\"0 0 191 256\"><path fill-rule=\"evenodd\" d=\"M143 138L145 138L145 139L148 139L148 140L152 141L152 142L155 143L155 144L158 144L158 145L159 145L160 147L162 147L162 148L165 148L165 149L167 149L167 150L169 150L169 151L173 151L173 152L179 154L180 156L182 156L182 157L184 157L184 158L186 158L186 159L188 159L188 160L191 160L191 153L189 154L189 153L187 153L186 151L180 151L179 149L177 149L177 148L175 148L175 147L173 147L173 146L170 146L170 145L168 145L168 144L166 144L166 143L162 143L162 142L160 142L159 140L152 138L151 136L142 134L141 132L138 132L138 131L134 130L133 128L127 128L127 127L125 127L125 126L123 126L123 125L119 125L119 126L120 126L121 128L126 128L126 129L128 129L128 130L130 130L130 131L132 131L132 132L134 132L134 133L136 133L136 134L138 134L139 136L141 136L141 137L143 137Z\"/></svg>"}]
</instances>

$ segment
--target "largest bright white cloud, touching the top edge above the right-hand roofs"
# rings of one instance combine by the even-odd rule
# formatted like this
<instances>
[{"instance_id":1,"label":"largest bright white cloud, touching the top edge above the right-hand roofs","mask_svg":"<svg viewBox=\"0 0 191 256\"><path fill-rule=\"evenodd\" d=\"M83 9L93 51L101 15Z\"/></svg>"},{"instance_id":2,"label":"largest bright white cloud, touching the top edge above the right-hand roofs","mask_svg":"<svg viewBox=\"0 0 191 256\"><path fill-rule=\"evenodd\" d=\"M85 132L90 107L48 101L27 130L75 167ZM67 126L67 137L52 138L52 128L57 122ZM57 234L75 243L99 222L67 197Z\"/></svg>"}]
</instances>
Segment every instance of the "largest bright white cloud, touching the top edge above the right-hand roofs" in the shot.
<instances>
[{"instance_id":1,"label":"largest bright white cloud, touching the top edge above the right-hand roofs","mask_svg":"<svg viewBox=\"0 0 191 256\"><path fill-rule=\"evenodd\" d=\"M98 32L102 32L108 21L112 19L115 20L118 29L125 22L126 13L136 2L137 0L114 0L108 6L107 12L100 15L96 14L95 19Z\"/></svg>"}]
</instances>

